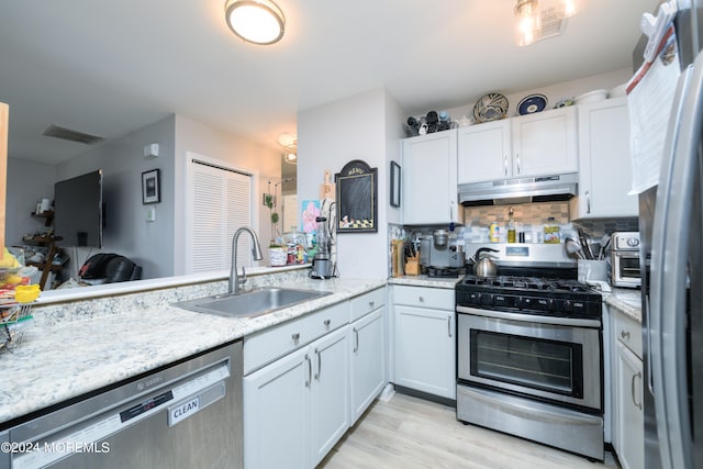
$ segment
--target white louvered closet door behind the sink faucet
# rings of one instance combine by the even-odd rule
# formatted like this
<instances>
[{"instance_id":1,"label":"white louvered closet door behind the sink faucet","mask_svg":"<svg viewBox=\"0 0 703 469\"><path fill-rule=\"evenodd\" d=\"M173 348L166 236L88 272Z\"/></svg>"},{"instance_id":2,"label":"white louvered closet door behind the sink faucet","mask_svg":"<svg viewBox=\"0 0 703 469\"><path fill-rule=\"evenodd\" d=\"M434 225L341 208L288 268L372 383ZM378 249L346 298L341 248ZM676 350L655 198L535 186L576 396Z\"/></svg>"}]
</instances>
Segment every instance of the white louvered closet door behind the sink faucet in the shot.
<instances>
[{"instance_id":1,"label":"white louvered closet door behind the sink faucet","mask_svg":"<svg viewBox=\"0 0 703 469\"><path fill-rule=\"evenodd\" d=\"M191 272L228 269L232 236L252 226L252 176L191 160ZM239 237L237 265L252 265L252 242Z\"/></svg>"}]
</instances>

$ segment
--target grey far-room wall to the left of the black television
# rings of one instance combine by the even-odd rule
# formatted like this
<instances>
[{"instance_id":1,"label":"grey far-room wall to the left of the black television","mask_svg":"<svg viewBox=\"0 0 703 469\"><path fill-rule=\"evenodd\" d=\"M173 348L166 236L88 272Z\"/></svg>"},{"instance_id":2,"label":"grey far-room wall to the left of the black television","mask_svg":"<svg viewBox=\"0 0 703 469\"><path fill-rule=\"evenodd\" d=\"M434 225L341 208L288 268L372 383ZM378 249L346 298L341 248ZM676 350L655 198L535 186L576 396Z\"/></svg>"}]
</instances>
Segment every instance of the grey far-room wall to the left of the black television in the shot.
<instances>
[{"instance_id":1,"label":"grey far-room wall to the left of the black television","mask_svg":"<svg viewBox=\"0 0 703 469\"><path fill-rule=\"evenodd\" d=\"M5 244L23 245L22 236L44 226L44 219L31 214L36 202L45 198L54 200L56 169L53 165L8 158L7 179Z\"/></svg>"}]
</instances>

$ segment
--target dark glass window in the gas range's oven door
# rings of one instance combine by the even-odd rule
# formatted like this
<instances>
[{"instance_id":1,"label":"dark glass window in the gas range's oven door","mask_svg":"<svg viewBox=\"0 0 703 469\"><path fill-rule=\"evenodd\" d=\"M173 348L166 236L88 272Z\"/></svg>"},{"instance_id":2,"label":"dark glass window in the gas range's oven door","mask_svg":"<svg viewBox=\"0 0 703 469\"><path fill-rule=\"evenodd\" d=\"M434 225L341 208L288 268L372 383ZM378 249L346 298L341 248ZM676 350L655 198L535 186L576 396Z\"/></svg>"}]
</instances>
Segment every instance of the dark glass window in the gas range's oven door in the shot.
<instances>
[{"instance_id":1,"label":"dark glass window in the gas range's oven door","mask_svg":"<svg viewBox=\"0 0 703 469\"><path fill-rule=\"evenodd\" d=\"M580 344L471 330L471 375L583 397Z\"/></svg>"}]
</instances>

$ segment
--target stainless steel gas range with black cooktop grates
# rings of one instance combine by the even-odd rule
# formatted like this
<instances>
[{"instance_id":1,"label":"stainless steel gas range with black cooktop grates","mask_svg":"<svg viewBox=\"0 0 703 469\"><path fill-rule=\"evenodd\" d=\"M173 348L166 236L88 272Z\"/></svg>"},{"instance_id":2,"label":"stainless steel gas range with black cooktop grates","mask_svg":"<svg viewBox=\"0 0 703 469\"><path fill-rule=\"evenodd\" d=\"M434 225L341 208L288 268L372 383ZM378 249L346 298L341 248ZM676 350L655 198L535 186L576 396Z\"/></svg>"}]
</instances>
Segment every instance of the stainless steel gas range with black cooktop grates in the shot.
<instances>
[{"instance_id":1,"label":"stainless steel gas range with black cooktop grates","mask_svg":"<svg viewBox=\"0 0 703 469\"><path fill-rule=\"evenodd\" d=\"M457 283L457 418L602 460L601 295L535 265Z\"/></svg>"}]
</instances>

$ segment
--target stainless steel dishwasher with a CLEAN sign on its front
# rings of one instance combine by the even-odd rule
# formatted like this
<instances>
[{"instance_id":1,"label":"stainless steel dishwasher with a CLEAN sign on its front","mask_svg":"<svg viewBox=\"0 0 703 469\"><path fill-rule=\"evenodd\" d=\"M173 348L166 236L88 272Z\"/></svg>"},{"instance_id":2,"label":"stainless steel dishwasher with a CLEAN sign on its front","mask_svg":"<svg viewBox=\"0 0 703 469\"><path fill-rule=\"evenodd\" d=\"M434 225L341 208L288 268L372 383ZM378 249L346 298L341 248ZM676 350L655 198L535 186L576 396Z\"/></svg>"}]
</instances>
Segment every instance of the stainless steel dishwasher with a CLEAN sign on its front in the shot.
<instances>
[{"instance_id":1,"label":"stainless steel dishwasher with a CLEAN sign on its front","mask_svg":"<svg viewBox=\"0 0 703 469\"><path fill-rule=\"evenodd\" d=\"M242 468L242 367L237 340L52 409L0 433L0 468Z\"/></svg>"}]
</instances>

